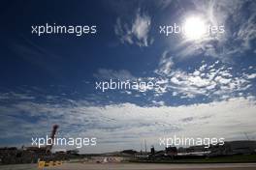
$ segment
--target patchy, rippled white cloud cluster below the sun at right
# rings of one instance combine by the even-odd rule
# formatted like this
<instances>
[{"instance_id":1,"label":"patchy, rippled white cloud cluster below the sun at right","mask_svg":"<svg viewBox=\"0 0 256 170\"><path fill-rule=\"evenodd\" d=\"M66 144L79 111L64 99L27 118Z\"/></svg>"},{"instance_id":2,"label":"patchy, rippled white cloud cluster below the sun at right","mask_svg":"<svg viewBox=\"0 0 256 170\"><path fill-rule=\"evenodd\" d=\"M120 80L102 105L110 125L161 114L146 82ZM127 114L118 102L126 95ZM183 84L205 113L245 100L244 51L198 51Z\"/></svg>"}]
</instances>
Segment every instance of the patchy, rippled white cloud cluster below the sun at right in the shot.
<instances>
[{"instance_id":1,"label":"patchy, rippled white cloud cluster below the sun at right","mask_svg":"<svg viewBox=\"0 0 256 170\"><path fill-rule=\"evenodd\" d=\"M166 52L163 56L167 56ZM159 68L155 72L161 76L161 81L164 82L161 85L165 91L161 93L175 91L180 98L206 96L208 99L218 99L224 95L233 97L236 92L239 93L250 88L250 79L256 76L253 73L235 75L232 68L226 67L219 61L209 66L203 64L192 72L171 70L171 67L167 66L172 59L173 57L162 57Z\"/></svg>"}]
</instances>

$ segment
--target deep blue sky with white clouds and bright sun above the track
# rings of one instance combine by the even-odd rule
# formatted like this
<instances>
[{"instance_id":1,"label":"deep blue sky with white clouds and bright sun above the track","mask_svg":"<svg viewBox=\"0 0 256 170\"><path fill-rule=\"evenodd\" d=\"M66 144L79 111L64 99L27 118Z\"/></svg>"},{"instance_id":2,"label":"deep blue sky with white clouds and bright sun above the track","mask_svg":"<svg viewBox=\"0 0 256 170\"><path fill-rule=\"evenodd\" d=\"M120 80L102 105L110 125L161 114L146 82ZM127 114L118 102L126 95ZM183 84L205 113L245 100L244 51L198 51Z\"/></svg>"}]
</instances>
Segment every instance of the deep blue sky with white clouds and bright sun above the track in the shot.
<instances>
[{"instance_id":1,"label":"deep blue sky with white clouds and bright sun above the track","mask_svg":"<svg viewBox=\"0 0 256 170\"><path fill-rule=\"evenodd\" d=\"M16 0L0 8L0 146L29 146L54 124L57 136L97 138L80 153L140 150L144 140L163 149L159 137L175 134L256 139L255 1ZM225 32L161 32L189 18ZM46 23L97 32L32 34ZM96 88L111 79L158 88Z\"/></svg>"}]
</instances>

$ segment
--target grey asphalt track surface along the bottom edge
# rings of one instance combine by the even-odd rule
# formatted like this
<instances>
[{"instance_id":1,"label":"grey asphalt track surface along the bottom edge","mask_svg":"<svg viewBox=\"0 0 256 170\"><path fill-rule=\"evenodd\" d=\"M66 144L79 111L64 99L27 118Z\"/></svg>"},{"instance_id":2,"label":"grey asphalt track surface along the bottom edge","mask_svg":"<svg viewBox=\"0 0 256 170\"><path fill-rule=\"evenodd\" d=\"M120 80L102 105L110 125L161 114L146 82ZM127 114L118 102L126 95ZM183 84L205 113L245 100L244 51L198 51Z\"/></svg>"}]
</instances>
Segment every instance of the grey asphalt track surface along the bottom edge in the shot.
<instances>
[{"instance_id":1,"label":"grey asphalt track surface along the bottom edge","mask_svg":"<svg viewBox=\"0 0 256 170\"><path fill-rule=\"evenodd\" d=\"M38 170L36 164L0 165L1 170ZM256 170L256 163L160 164L160 163L64 163L45 170Z\"/></svg>"}]
</instances>

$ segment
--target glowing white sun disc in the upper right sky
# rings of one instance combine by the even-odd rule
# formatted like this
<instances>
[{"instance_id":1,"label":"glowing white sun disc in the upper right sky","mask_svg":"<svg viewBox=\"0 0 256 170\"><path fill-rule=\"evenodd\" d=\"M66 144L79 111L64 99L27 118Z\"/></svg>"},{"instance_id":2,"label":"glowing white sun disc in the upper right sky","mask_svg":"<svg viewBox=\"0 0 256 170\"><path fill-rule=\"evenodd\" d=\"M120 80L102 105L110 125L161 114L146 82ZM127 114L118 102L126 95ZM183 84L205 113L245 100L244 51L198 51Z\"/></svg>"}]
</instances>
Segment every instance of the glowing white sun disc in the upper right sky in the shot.
<instances>
[{"instance_id":1,"label":"glowing white sun disc in the upper right sky","mask_svg":"<svg viewBox=\"0 0 256 170\"><path fill-rule=\"evenodd\" d=\"M188 17L183 25L183 33L188 40L202 39L207 33L204 19L197 16Z\"/></svg>"}]
</instances>

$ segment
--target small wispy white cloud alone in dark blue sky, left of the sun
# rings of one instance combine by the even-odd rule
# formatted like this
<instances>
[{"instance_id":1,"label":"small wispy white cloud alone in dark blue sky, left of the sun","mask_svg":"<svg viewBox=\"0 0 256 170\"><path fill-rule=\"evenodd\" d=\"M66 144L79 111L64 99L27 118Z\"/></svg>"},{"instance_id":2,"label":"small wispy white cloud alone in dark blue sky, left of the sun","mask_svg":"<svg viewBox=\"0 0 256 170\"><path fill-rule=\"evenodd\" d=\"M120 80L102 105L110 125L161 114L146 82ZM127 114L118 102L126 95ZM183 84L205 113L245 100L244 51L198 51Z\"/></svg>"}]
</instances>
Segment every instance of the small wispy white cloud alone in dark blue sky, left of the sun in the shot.
<instances>
[{"instance_id":1,"label":"small wispy white cloud alone in dark blue sky, left of the sun","mask_svg":"<svg viewBox=\"0 0 256 170\"><path fill-rule=\"evenodd\" d=\"M119 37L122 43L127 42L139 46L148 46L153 42L153 39L148 36L150 25L151 18L138 10L131 24L122 23L121 19L118 17L114 26L114 33Z\"/></svg>"}]
</instances>

